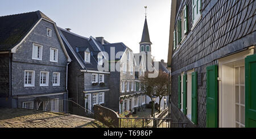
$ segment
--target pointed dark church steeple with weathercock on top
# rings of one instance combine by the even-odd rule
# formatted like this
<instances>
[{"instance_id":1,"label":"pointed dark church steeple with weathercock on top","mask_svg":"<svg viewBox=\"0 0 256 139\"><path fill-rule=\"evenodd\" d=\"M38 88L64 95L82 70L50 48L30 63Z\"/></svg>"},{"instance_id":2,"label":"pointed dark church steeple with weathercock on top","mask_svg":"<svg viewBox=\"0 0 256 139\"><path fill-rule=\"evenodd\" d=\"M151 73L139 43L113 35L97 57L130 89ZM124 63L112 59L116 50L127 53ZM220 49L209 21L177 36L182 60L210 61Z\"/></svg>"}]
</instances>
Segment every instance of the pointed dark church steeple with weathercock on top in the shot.
<instances>
[{"instance_id":1,"label":"pointed dark church steeple with weathercock on top","mask_svg":"<svg viewBox=\"0 0 256 139\"><path fill-rule=\"evenodd\" d=\"M147 26L147 6L144 7L146 9L146 14L145 14L145 22L144 22L144 27L143 27L143 32L142 32L142 39L141 43L139 43L140 47L140 52L151 52L151 41L150 41L150 35L148 32L148 26Z\"/></svg>"}]
</instances>

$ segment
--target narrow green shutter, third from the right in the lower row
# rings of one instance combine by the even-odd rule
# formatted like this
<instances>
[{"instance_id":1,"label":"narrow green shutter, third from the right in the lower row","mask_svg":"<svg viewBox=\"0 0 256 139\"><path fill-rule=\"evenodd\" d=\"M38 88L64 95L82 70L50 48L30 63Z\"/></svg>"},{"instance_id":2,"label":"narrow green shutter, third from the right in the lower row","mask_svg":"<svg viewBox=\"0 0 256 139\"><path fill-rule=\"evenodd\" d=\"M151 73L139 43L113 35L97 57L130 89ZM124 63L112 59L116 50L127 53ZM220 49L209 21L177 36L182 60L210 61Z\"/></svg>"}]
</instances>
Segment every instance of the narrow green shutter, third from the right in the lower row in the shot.
<instances>
[{"instance_id":1,"label":"narrow green shutter, third from the right in the lower row","mask_svg":"<svg viewBox=\"0 0 256 139\"><path fill-rule=\"evenodd\" d=\"M192 73L192 122L197 124L197 72Z\"/></svg>"}]
</instances>

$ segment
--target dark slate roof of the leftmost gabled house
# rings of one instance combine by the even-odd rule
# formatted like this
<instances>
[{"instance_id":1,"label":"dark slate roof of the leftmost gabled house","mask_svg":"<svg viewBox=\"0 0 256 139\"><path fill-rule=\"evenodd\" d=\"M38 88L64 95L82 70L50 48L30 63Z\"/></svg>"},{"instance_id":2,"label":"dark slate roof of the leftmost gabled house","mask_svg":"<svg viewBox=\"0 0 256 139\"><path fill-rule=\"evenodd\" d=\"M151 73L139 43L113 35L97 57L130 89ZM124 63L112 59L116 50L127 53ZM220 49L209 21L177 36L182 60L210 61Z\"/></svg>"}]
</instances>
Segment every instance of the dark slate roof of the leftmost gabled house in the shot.
<instances>
[{"instance_id":1,"label":"dark slate roof of the leftmost gabled house","mask_svg":"<svg viewBox=\"0 0 256 139\"><path fill-rule=\"evenodd\" d=\"M0 16L0 51L11 50L20 43L40 18L53 22L41 11Z\"/></svg>"}]
</instances>

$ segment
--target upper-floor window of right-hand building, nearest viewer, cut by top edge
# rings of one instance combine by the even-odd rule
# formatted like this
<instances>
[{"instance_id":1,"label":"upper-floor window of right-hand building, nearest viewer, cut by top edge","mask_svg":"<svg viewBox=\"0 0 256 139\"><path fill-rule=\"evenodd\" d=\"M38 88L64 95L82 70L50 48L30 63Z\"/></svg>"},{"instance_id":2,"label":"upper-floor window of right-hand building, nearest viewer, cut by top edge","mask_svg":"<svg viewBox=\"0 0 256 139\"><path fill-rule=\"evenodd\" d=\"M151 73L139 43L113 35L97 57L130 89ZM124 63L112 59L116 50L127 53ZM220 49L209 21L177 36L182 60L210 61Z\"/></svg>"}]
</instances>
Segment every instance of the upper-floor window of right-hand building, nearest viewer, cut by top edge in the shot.
<instances>
[{"instance_id":1,"label":"upper-floor window of right-hand building, nearest viewer, cut by top edge","mask_svg":"<svg viewBox=\"0 0 256 139\"><path fill-rule=\"evenodd\" d=\"M201 0L192 0L192 12L193 12L193 28L195 28L196 24L199 22L201 18Z\"/></svg>"}]
</instances>

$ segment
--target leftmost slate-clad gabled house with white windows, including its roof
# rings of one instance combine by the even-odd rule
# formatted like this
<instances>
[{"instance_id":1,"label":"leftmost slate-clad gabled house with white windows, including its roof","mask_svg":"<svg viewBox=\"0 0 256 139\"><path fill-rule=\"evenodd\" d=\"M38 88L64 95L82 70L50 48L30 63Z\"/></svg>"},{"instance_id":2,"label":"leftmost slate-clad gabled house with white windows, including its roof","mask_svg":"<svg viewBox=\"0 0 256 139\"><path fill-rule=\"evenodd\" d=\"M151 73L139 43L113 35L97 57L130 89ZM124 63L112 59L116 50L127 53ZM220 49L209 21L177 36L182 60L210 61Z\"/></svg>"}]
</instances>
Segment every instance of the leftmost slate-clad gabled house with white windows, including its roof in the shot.
<instances>
[{"instance_id":1,"label":"leftmost slate-clad gabled house with white windows, including its roof","mask_svg":"<svg viewBox=\"0 0 256 139\"><path fill-rule=\"evenodd\" d=\"M19 95L67 99L67 65L71 59L56 23L40 11L0 16L0 107L17 107ZM46 103L21 102L23 108ZM62 109L62 108L61 108Z\"/></svg>"}]
</instances>

